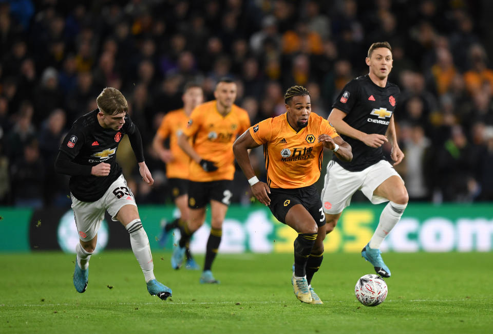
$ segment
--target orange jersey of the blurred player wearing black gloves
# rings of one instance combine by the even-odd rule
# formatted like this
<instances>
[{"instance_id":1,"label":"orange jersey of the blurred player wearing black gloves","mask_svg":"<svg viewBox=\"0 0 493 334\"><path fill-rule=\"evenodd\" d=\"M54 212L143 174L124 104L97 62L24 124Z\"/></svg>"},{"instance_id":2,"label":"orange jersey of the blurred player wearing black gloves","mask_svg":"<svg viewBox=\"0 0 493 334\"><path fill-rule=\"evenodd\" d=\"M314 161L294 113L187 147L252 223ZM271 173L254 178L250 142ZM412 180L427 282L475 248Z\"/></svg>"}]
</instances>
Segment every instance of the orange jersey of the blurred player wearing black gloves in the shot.
<instances>
[{"instance_id":1,"label":"orange jersey of the blurred player wearing black gloves","mask_svg":"<svg viewBox=\"0 0 493 334\"><path fill-rule=\"evenodd\" d=\"M189 179L195 182L232 180L235 174L233 143L249 126L247 110L235 104L225 116L217 111L216 100L197 106L183 133L193 138L195 152L202 159L213 161L218 169L205 172L198 163L192 161Z\"/></svg>"}]
</instances>

